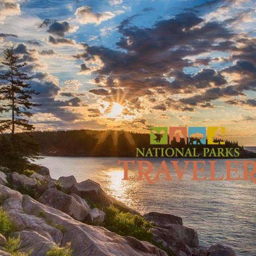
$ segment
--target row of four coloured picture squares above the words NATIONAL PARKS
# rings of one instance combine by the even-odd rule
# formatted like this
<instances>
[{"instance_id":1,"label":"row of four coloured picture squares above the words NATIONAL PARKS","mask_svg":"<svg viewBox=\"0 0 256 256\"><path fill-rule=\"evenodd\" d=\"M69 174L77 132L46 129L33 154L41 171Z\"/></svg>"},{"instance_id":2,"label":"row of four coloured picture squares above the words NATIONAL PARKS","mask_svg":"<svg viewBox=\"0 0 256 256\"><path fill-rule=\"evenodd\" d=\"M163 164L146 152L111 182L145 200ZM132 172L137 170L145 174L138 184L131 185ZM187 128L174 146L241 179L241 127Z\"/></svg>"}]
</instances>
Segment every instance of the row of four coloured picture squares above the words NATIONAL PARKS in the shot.
<instances>
[{"instance_id":1,"label":"row of four coloured picture squares above the words NATIONAL PARKS","mask_svg":"<svg viewBox=\"0 0 256 256\"><path fill-rule=\"evenodd\" d=\"M151 145L225 145L226 129L223 126L209 127L153 127L150 131Z\"/></svg>"}]
</instances>

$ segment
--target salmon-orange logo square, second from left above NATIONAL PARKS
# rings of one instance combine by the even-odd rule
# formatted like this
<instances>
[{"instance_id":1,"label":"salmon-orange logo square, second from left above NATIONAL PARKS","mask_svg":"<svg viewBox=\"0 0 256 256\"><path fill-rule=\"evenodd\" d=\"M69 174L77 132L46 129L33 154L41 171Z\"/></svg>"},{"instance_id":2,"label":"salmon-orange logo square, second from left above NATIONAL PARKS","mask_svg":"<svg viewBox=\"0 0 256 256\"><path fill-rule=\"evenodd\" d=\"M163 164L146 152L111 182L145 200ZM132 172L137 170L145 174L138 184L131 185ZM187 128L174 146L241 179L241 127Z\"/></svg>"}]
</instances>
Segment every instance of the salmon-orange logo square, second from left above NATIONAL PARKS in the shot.
<instances>
[{"instance_id":1,"label":"salmon-orange logo square, second from left above NATIONAL PARKS","mask_svg":"<svg viewBox=\"0 0 256 256\"><path fill-rule=\"evenodd\" d=\"M169 144L172 146L187 144L187 127L169 127Z\"/></svg>"}]
</instances>

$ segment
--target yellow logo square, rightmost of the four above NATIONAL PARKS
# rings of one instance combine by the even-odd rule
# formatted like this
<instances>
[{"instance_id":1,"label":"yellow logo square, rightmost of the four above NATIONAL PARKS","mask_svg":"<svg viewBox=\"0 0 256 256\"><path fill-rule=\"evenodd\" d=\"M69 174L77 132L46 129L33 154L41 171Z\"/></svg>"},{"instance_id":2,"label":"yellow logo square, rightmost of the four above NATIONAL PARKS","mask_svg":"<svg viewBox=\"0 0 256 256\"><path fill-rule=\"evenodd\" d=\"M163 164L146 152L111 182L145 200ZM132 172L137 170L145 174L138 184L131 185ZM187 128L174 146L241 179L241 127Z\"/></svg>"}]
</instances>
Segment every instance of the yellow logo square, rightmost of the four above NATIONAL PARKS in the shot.
<instances>
[{"instance_id":1,"label":"yellow logo square, rightmost of the four above NATIONAL PARKS","mask_svg":"<svg viewBox=\"0 0 256 256\"><path fill-rule=\"evenodd\" d=\"M225 145L226 129L223 126L207 127L207 144L209 145Z\"/></svg>"}]
</instances>

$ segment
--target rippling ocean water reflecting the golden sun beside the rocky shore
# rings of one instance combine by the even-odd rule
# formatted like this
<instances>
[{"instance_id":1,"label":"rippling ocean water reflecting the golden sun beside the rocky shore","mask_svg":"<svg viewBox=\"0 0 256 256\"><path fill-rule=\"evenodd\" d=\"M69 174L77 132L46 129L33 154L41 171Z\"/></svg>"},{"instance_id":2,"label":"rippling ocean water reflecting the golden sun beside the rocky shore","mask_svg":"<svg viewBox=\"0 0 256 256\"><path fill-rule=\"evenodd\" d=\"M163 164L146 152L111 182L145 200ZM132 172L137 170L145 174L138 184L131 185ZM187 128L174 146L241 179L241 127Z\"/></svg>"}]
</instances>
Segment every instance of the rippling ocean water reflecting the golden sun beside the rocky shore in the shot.
<instances>
[{"instance_id":1,"label":"rippling ocean water reflecting the golden sun beside the rocky shore","mask_svg":"<svg viewBox=\"0 0 256 256\"><path fill-rule=\"evenodd\" d=\"M38 162L48 167L55 179L74 175L77 181L97 181L109 195L141 213L158 211L182 217L185 226L198 232L201 245L221 243L233 247L237 255L256 255L256 183L251 180L192 181L191 165L183 179L179 180L167 158L150 161L155 172L165 160L171 181L166 181L163 175L155 184L149 184L146 180L138 181L137 166L130 168L129 180L122 180L124 171L122 165L118 166L118 160L134 158L45 157ZM179 161L182 168L184 161L191 159L171 160ZM220 177L222 173L226 175L225 159L215 160L216 176ZM209 177L207 164L206 161L205 169ZM242 164L238 170L242 175Z\"/></svg>"}]
</instances>

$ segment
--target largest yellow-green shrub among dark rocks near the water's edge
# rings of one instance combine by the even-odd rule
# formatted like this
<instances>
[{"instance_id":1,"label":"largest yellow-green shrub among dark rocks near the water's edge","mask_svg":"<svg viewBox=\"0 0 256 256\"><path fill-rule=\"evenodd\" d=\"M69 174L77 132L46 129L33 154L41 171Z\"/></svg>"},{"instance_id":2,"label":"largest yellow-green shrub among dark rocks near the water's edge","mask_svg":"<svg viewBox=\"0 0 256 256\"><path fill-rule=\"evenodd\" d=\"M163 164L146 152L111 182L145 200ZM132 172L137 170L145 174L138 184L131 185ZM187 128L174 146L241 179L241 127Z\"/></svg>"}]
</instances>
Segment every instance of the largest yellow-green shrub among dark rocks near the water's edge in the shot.
<instances>
[{"instance_id":1,"label":"largest yellow-green shrub among dark rocks near the water's edge","mask_svg":"<svg viewBox=\"0 0 256 256\"><path fill-rule=\"evenodd\" d=\"M121 236L133 236L142 241L153 241L153 235L150 230L152 225L150 222L139 215L120 212L114 206L109 206L106 209L104 226Z\"/></svg>"}]
</instances>

